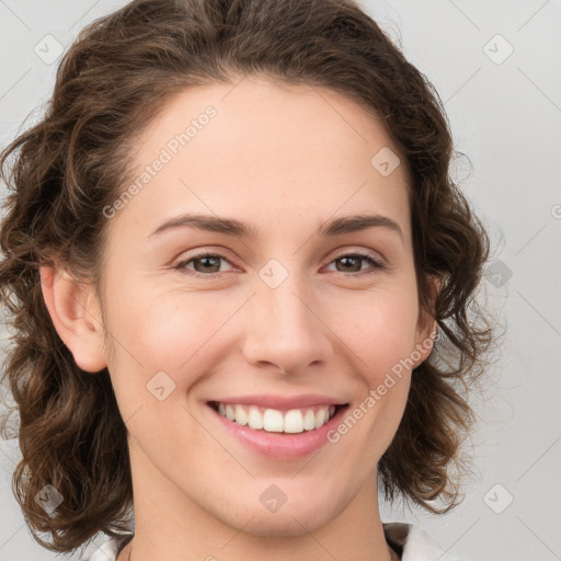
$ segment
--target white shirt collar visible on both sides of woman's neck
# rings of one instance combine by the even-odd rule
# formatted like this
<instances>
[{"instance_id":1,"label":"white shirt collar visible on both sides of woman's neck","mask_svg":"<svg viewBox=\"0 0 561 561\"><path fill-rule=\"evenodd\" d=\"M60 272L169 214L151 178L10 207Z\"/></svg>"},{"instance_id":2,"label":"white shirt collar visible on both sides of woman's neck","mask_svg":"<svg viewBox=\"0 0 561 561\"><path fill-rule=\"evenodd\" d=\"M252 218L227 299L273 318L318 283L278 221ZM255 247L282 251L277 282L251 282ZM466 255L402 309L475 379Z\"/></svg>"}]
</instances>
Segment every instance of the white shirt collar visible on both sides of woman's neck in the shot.
<instances>
[{"instance_id":1,"label":"white shirt collar visible on both sides of woman's neck","mask_svg":"<svg viewBox=\"0 0 561 561\"><path fill-rule=\"evenodd\" d=\"M420 526L405 523L382 523L386 540L401 553L401 561L462 561L445 553ZM115 561L121 543L126 539L111 538L83 561Z\"/></svg>"}]
</instances>

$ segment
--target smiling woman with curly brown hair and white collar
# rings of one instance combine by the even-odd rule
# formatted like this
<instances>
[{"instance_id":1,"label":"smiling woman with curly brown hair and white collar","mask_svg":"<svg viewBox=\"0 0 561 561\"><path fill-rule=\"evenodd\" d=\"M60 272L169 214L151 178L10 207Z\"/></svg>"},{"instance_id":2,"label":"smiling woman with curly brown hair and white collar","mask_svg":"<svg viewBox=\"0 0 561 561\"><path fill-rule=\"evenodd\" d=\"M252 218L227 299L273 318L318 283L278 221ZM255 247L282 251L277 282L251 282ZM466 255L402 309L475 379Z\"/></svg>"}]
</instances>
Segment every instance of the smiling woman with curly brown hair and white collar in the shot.
<instances>
[{"instance_id":1,"label":"smiling woman with curly brown hair and white collar","mask_svg":"<svg viewBox=\"0 0 561 561\"><path fill-rule=\"evenodd\" d=\"M378 506L379 484L458 503L456 382L492 337L451 153L432 85L351 0L136 0L85 28L2 153L36 539L103 531L93 561L454 559Z\"/></svg>"}]
</instances>

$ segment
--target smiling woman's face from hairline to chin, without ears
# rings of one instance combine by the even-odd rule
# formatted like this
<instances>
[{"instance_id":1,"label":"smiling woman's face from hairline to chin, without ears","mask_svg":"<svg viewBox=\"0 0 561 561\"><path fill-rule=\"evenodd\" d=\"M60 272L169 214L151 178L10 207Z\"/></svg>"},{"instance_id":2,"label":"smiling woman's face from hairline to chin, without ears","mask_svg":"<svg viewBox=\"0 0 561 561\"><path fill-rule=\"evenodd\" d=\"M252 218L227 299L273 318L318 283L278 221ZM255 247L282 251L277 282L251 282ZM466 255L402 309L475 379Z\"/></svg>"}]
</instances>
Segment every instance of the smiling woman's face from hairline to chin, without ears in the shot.
<instances>
[{"instance_id":1,"label":"smiling woman's face from hairline to chin, without ears","mask_svg":"<svg viewBox=\"0 0 561 561\"><path fill-rule=\"evenodd\" d=\"M376 489L432 327L391 147L346 99L249 78L182 93L138 140L103 280L135 501L283 535Z\"/></svg>"}]
</instances>

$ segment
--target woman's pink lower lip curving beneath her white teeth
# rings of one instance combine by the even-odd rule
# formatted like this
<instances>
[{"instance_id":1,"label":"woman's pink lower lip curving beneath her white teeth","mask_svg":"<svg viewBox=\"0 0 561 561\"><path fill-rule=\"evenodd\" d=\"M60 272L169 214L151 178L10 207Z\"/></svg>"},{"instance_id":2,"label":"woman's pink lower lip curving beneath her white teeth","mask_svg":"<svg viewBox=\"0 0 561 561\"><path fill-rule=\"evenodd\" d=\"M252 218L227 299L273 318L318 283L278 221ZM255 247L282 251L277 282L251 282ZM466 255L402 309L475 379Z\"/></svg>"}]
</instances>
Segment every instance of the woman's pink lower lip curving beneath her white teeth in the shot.
<instances>
[{"instance_id":1,"label":"woman's pink lower lip curving beneath her white teeth","mask_svg":"<svg viewBox=\"0 0 561 561\"><path fill-rule=\"evenodd\" d=\"M250 449L277 460L291 460L304 458L324 446L328 440L328 433L335 428L341 422L348 405L341 408L332 419L321 428L304 431L302 433L268 433L266 431L254 431L248 425L239 425L217 413L210 405L208 409L221 425L238 440Z\"/></svg>"}]
</instances>

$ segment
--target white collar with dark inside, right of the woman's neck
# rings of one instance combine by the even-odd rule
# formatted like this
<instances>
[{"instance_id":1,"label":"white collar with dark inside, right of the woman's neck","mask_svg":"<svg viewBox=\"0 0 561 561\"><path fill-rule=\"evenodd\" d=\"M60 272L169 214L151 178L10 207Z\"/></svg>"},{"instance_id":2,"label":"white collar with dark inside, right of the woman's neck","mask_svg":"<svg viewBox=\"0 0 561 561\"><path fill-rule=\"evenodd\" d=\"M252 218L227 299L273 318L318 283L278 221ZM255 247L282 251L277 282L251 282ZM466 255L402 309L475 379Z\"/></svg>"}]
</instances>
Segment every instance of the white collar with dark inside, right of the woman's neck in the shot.
<instances>
[{"instance_id":1,"label":"white collar with dark inside, right of the woman's neck","mask_svg":"<svg viewBox=\"0 0 561 561\"><path fill-rule=\"evenodd\" d=\"M445 553L428 534L415 524L383 523L388 543L401 554L401 561L462 561Z\"/></svg>"}]
</instances>

